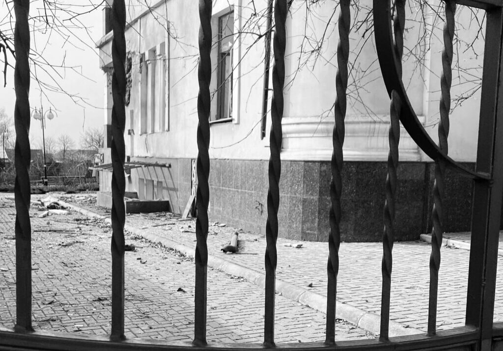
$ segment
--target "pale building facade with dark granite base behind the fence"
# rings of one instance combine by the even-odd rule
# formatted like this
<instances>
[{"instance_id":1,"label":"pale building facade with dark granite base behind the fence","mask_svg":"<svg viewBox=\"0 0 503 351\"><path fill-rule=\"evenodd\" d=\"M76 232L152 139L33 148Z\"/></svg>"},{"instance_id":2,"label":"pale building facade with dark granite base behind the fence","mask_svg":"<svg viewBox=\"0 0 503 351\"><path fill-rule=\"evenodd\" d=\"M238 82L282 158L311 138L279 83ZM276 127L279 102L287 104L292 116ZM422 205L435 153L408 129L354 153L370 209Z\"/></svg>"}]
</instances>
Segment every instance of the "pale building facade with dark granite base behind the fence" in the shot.
<instances>
[{"instance_id":1,"label":"pale building facade with dark granite base behind the fence","mask_svg":"<svg viewBox=\"0 0 503 351\"><path fill-rule=\"evenodd\" d=\"M267 218L270 115L264 138L262 120L264 103L269 109L272 94L265 99L264 91L272 85L264 79L268 1L251 3L213 2L209 214L211 221L261 233L265 232ZM329 232L338 9L336 3L326 1L303 11L306 3L293 2L287 20L279 236L325 241ZM389 97L380 77L372 33L365 31L367 8L371 8L371 2L361 2L360 11L355 11L352 19L343 241L379 241L383 227ZM443 23L438 23L434 12L423 22L414 21L424 15L414 11L408 9L412 21L406 28L403 82L416 114L438 140ZM106 8L105 33L97 46L100 65L110 78L109 13ZM461 23L472 23L473 14L459 16ZM167 0L147 8L132 0L127 23L126 155L128 162L141 167L128 171L126 191L140 199L169 200L171 209L181 213L197 183L198 3ZM469 43L472 32L468 25L460 26L457 35ZM463 72L481 77L481 69L476 68L481 66L478 52L483 52L483 41L474 39L472 51L458 52L458 61L473 67ZM473 166L479 91L477 80L463 74L459 74L458 83L453 83L452 96L459 96L456 103L462 106L451 116L449 155ZM469 98L465 96L468 93ZM110 146L111 79L105 95L105 146ZM396 239L412 240L431 228L433 165L403 128L399 148L402 162L398 169ZM104 163L110 162L109 149L102 152ZM107 193L111 173L101 173L100 189ZM471 182L448 173L446 187L445 230L469 230L470 203L460 203L459 199L467 198L472 191Z\"/></svg>"}]
</instances>

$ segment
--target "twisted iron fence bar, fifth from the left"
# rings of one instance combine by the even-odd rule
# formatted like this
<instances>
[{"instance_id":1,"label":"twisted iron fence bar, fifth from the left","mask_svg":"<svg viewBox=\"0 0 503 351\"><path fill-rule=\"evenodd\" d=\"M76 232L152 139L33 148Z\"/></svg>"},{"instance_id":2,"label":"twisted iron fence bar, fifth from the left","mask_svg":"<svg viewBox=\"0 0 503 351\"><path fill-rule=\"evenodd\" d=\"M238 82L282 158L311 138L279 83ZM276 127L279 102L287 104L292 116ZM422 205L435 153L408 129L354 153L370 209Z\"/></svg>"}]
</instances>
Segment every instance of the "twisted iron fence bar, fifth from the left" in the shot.
<instances>
[{"instance_id":1,"label":"twisted iron fence bar, fifth from the left","mask_svg":"<svg viewBox=\"0 0 503 351\"><path fill-rule=\"evenodd\" d=\"M328 212L330 233L328 236L326 333L325 343L335 342L337 275L339 273L339 246L341 245L341 195L343 144L346 118L346 90L348 88L349 33L351 25L350 0L341 0L339 14L339 44L337 46L335 124L332 132L332 159L330 180L330 209Z\"/></svg>"}]
</instances>

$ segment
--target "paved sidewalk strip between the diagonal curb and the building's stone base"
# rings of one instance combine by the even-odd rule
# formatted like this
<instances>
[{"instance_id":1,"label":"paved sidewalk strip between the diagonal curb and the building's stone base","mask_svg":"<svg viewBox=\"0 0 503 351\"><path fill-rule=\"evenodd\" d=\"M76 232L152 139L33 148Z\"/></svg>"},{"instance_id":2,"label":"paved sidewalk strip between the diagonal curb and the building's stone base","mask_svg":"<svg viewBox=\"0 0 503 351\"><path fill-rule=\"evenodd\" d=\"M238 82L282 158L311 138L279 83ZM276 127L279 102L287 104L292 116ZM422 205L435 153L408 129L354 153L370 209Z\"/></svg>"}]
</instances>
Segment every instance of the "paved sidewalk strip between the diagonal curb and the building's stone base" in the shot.
<instances>
[{"instance_id":1,"label":"paved sidewalk strip between the diagonal curb and the building's stone base","mask_svg":"<svg viewBox=\"0 0 503 351\"><path fill-rule=\"evenodd\" d=\"M220 249L228 244L234 229L220 226L223 223L219 224L211 225L210 223L209 254L238 267L263 274L265 272L265 237L255 233L240 232L239 254L225 255ZM126 225L145 237L162 238L169 244L168 246L176 246L178 243L192 251L195 248L194 219L180 220L179 217L169 213L135 214L127 216ZM317 304L319 305L321 300L326 299L327 244L303 242L301 249L288 246L293 244L297 243L278 239L277 278L322 297L315 298L314 303L311 304L312 307L317 308ZM437 319L440 330L464 325L469 262L469 252L466 250L443 247L441 252ZM408 328L418 329L411 330L412 333L427 329L430 253L430 245L424 242L394 244L390 318L405 326L405 328L397 328L395 332L407 333ZM374 313L365 316L370 318L365 325L358 325L375 332L379 327L376 314L380 313L381 303L382 243L342 243L339 255L338 301L344 303L345 307L352 306L364 312ZM494 321L503 321L503 286L501 286L503 270L499 269L499 265L500 263L498 263ZM243 270L243 272L247 271ZM310 284L312 287L309 287ZM284 290L288 292L291 286ZM283 292L280 291L280 293ZM303 301L308 305L309 302L313 301ZM340 305L338 305L338 312L341 312L339 307ZM348 315L341 317L355 323L360 320L361 315L357 315L356 318Z\"/></svg>"}]
</instances>

